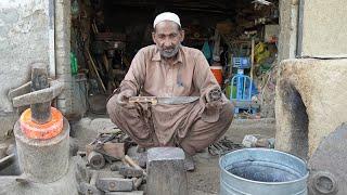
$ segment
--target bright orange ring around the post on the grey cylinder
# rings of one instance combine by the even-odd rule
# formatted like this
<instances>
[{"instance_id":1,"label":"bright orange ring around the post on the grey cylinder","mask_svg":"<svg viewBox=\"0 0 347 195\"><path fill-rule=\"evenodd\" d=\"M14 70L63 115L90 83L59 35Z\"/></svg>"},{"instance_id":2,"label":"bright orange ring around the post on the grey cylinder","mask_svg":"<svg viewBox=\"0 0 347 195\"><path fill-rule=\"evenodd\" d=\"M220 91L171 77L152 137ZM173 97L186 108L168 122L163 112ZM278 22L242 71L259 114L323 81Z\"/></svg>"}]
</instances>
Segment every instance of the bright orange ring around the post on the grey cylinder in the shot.
<instances>
[{"instance_id":1,"label":"bright orange ring around the post on the grey cylinder","mask_svg":"<svg viewBox=\"0 0 347 195\"><path fill-rule=\"evenodd\" d=\"M54 107L51 107L51 115L47 123L36 123L31 120L31 109L26 109L20 118L22 132L29 139L48 140L56 136L63 130L63 115Z\"/></svg>"}]
</instances>

